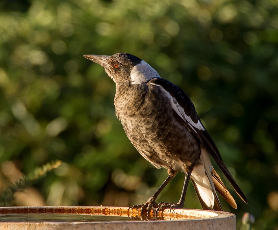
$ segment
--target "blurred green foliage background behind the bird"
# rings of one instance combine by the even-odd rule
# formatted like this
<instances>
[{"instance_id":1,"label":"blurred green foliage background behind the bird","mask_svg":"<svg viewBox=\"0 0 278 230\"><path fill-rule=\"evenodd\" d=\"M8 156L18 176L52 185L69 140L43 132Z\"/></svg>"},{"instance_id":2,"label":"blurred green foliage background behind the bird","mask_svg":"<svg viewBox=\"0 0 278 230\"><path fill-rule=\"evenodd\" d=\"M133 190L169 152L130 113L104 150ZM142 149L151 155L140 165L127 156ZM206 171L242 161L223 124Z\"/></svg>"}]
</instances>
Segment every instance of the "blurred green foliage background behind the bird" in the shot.
<instances>
[{"instance_id":1,"label":"blurred green foliage background behind the bird","mask_svg":"<svg viewBox=\"0 0 278 230\"><path fill-rule=\"evenodd\" d=\"M277 0L1 0L0 190L63 163L11 205L144 203L167 177L114 111L116 87L84 54L134 54L195 104L247 196L225 211L278 229ZM184 174L158 197L178 202ZM201 208L192 185L186 208Z\"/></svg>"}]
</instances>

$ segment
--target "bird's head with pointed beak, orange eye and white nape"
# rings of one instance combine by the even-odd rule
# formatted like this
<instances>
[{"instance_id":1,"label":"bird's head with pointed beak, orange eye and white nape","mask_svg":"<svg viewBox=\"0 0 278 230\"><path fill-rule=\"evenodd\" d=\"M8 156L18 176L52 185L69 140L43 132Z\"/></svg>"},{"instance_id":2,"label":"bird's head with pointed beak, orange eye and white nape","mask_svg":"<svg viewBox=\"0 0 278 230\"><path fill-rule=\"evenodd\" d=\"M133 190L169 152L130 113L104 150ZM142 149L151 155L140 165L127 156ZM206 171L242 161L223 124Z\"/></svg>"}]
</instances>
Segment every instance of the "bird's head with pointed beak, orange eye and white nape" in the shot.
<instances>
[{"instance_id":1,"label":"bird's head with pointed beak, orange eye and white nape","mask_svg":"<svg viewBox=\"0 0 278 230\"><path fill-rule=\"evenodd\" d=\"M132 54L118 53L112 56L86 54L83 57L101 65L116 84L123 81L140 84L160 77L147 62Z\"/></svg>"}]
</instances>

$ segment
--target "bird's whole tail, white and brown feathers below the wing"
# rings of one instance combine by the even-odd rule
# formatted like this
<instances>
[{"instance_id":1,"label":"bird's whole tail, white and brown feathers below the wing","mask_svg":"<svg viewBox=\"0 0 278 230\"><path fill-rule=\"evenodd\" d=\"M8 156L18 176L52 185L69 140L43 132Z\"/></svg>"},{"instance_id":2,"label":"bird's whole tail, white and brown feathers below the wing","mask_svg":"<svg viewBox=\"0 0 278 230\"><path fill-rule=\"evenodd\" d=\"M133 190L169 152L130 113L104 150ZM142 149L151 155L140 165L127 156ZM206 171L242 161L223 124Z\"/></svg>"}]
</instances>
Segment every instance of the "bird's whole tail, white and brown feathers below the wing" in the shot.
<instances>
[{"instance_id":1,"label":"bird's whole tail, white and brown feathers below the wing","mask_svg":"<svg viewBox=\"0 0 278 230\"><path fill-rule=\"evenodd\" d=\"M200 155L201 164L195 166L191 174L191 181L194 185L197 196L203 209L222 211L216 191L223 196L232 207L237 204L221 181L218 174L212 167L208 151L202 147Z\"/></svg>"}]
</instances>

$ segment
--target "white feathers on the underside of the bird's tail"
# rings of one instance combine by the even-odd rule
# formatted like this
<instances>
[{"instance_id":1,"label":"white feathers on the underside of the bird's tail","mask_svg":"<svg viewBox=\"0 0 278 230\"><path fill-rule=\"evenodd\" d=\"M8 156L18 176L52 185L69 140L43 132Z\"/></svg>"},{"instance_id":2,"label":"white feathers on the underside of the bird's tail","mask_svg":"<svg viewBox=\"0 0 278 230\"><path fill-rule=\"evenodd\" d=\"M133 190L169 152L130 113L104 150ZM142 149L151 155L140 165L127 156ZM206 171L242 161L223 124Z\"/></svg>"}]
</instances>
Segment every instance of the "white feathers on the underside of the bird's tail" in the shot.
<instances>
[{"instance_id":1,"label":"white feathers on the underside of the bird's tail","mask_svg":"<svg viewBox=\"0 0 278 230\"><path fill-rule=\"evenodd\" d=\"M218 200L218 197L211 176L213 168L209 153L203 146L201 147L200 162L201 165L194 167L193 172L191 173L191 179L195 182L197 190L204 203L208 207L213 207L215 198Z\"/></svg>"}]
</instances>

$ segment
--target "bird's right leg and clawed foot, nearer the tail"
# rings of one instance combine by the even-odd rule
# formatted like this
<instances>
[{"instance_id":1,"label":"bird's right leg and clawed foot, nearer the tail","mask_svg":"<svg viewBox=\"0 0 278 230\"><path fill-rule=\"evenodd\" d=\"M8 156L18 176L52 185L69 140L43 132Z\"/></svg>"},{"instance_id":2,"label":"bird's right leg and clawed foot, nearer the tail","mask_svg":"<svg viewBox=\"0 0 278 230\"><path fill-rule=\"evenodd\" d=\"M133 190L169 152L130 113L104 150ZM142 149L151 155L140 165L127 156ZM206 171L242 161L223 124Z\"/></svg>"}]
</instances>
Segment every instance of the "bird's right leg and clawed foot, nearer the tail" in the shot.
<instances>
[{"instance_id":1,"label":"bird's right leg and clawed foot, nearer the tail","mask_svg":"<svg viewBox=\"0 0 278 230\"><path fill-rule=\"evenodd\" d=\"M156 209L156 214L158 213L158 211L164 211L167 208L170 208L170 212L171 212L171 209L173 209L173 208L183 208L184 200L185 200L185 194L186 194L186 190L187 190L187 187L188 187L191 172L192 172L192 170L185 173L184 185L183 185L183 188L182 188L182 195L180 197L180 201L176 204L169 204L169 203L166 203L166 202L159 203L158 204L158 209Z\"/></svg>"}]
</instances>

